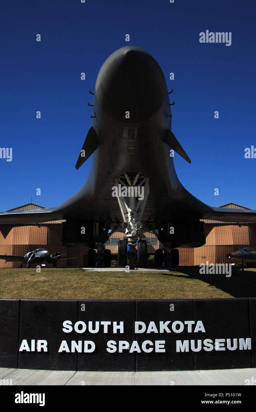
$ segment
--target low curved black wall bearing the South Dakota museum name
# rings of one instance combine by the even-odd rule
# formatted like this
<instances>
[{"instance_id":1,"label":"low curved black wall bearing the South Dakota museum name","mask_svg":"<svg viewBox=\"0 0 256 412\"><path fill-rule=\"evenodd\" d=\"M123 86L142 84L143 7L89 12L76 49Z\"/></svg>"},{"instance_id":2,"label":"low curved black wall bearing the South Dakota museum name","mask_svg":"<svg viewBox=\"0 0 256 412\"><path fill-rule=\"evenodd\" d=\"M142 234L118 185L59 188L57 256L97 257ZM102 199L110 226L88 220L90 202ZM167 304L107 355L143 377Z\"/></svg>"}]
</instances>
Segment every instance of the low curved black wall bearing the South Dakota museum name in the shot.
<instances>
[{"instance_id":1,"label":"low curved black wall bearing the South Dakota museum name","mask_svg":"<svg viewBox=\"0 0 256 412\"><path fill-rule=\"evenodd\" d=\"M0 299L0 367L99 371L256 367L256 298Z\"/></svg>"}]
</instances>

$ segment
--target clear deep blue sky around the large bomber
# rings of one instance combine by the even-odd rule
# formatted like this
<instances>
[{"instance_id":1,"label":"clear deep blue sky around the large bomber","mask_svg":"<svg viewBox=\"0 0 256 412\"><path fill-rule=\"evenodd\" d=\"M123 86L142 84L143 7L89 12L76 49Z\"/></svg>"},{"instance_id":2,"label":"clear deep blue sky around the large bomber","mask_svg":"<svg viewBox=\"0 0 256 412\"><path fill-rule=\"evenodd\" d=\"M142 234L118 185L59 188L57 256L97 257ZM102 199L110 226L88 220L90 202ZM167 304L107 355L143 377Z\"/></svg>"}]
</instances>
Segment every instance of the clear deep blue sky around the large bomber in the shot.
<instances>
[{"instance_id":1,"label":"clear deep blue sky around the large bomber","mask_svg":"<svg viewBox=\"0 0 256 412\"><path fill-rule=\"evenodd\" d=\"M90 166L75 169L91 127L88 91L127 45L152 54L174 89L172 131L192 160L174 157L181 183L212 206L231 199L256 209L256 159L244 158L256 147L254 0L2 0L0 14L0 147L13 149L12 162L0 159L0 211L31 196L57 206L80 189ZM231 46L201 44L206 30L232 32Z\"/></svg>"}]
</instances>

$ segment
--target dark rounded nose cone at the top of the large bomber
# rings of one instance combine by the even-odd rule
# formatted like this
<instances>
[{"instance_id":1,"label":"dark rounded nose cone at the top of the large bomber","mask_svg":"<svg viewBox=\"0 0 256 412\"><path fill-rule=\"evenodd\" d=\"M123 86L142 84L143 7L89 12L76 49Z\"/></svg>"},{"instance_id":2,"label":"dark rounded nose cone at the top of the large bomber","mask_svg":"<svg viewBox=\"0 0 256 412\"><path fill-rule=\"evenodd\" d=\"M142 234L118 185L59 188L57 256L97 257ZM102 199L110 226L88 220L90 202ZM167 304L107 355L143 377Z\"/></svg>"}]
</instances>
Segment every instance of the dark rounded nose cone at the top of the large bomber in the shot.
<instances>
[{"instance_id":1,"label":"dark rounded nose cone at the top of the large bomber","mask_svg":"<svg viewBox=\"0 0 256 412\"><path fill-rule=\"evenodd\" d=\"M153 116L162 108L166 95L162 69L139 47L122 47L111 54L96 80L96 98L101 108L122 123Z\"/></svg>"}]
</instances>

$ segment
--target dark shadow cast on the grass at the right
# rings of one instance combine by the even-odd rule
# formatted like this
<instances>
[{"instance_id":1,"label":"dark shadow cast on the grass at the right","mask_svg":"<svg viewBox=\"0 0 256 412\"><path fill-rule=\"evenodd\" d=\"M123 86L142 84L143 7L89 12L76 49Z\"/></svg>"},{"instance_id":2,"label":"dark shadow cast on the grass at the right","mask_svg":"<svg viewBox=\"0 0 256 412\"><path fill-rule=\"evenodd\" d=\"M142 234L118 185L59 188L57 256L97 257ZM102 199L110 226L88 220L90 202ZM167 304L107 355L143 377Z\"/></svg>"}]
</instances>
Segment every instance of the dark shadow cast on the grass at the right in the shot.
<instances>
[{"instance_id":1,"label":"dark shadow cast on the grass at the right","mask_svg":"<svg viewBox=\"0 0 256 412\"><path fill-rule=\"evenodd\" d=\"M225 274L200 274L198 266L172 268L162 275L198 279L208 283L209 287L214 286L234 297L256 297L256 271L251 268L245 269L242 275L242 268L232 267L230 277L226 277Z\"/></svg>"}]
</instances>

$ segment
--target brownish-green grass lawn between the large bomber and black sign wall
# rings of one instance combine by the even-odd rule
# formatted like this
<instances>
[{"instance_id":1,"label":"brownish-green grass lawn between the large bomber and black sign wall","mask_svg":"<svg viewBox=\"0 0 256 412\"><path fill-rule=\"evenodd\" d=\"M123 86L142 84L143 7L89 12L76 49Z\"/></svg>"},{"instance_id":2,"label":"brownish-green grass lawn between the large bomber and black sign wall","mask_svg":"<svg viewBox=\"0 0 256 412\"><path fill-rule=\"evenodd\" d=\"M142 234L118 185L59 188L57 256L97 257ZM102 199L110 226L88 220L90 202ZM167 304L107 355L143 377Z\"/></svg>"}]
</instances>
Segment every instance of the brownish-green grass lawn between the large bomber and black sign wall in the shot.
<instances>
[{"instance_id":1,"label":"brownish-green grass lawn between the large bomber and black sign wall","mask_svg":"<svg viewBox=\"0 0 256 412\"><path fill-rule=\"evenodd\" d=\"M256 297L256 269L201 275L199 267L168 272L94 272L80 268L0 269L0 298L195 299Z\"/></svg>"}]
</instances>

